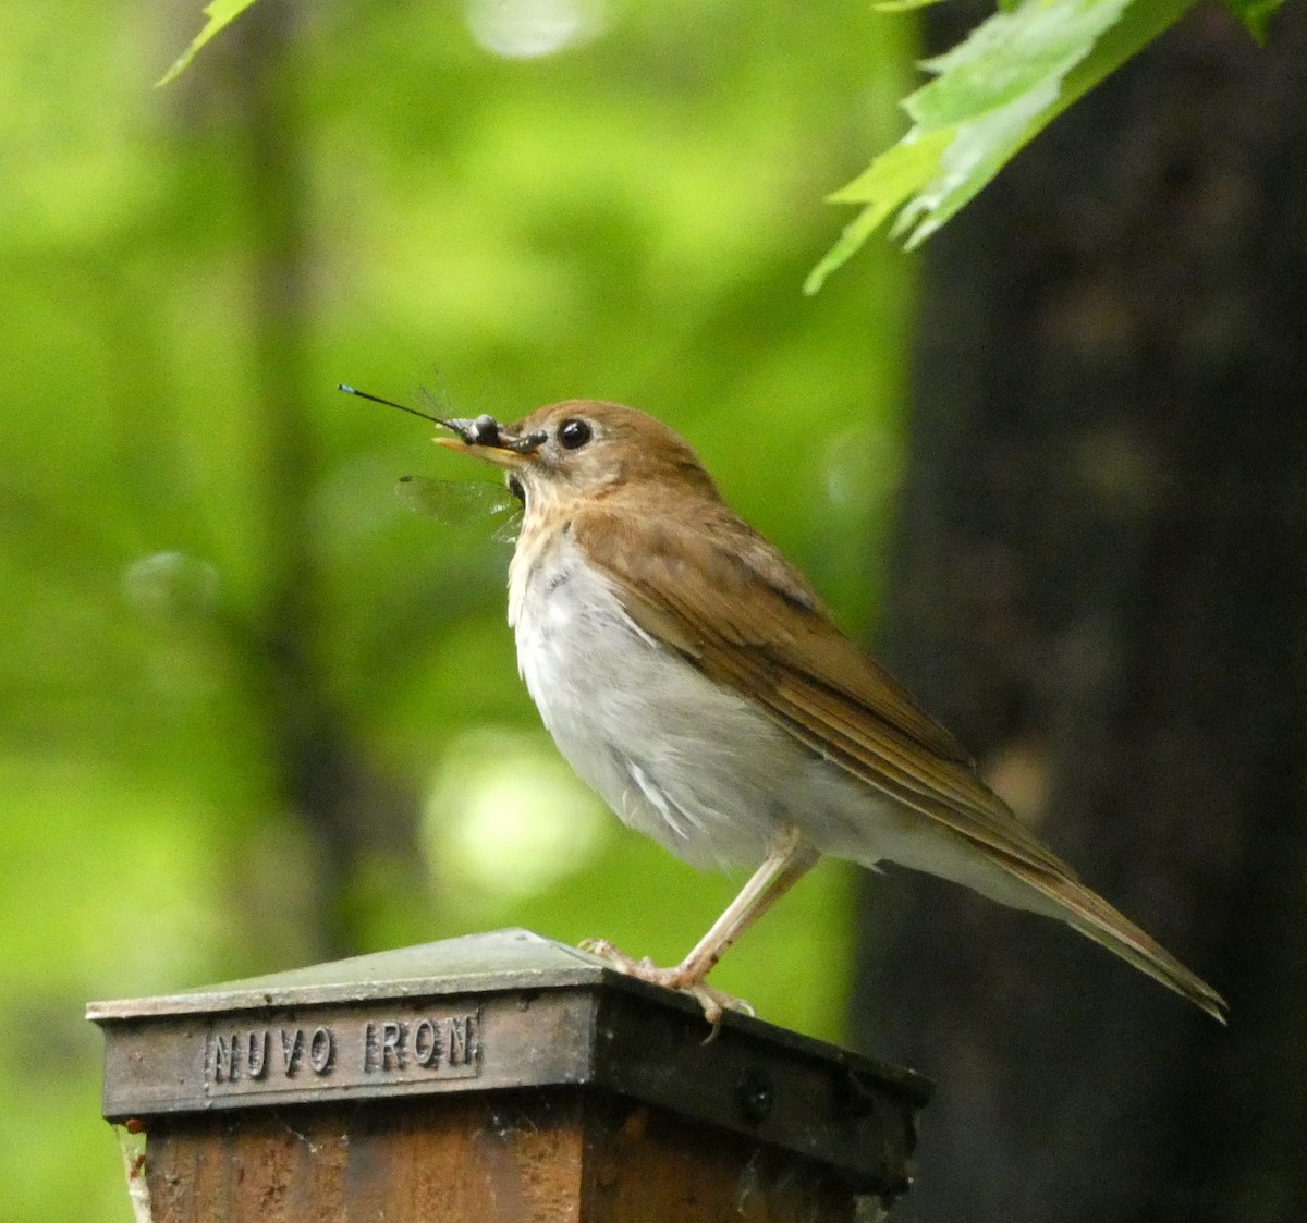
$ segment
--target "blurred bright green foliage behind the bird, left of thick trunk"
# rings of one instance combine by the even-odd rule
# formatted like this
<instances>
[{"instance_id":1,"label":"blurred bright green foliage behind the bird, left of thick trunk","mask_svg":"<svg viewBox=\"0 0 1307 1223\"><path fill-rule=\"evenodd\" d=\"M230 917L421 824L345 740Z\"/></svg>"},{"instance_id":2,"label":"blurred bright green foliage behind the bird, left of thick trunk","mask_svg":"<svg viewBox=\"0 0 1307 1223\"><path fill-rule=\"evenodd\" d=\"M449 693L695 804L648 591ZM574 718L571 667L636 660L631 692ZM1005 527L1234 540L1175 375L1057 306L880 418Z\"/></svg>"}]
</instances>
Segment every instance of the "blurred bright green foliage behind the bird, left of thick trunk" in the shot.
<instances>
[{"instance_id":1,"label":"blurred bright green foliage behind the bird, left of thick trunk","mask_svg":"<svg viewBox=\"0 0 1307 1223\"><path fill-rule=\"evenodd\" d=\"M188 5L5 10L0 1218L129 1216L90 998L507 924L670 962L737 882L558 764L507 550L392 495L472 473L337 382L643 406L874 614L910 267L800 285L898 135L903 20L299 8L162 90ZM819 868L715 980L838 1036L848 885Z\"/></svg>"}]
</instances>

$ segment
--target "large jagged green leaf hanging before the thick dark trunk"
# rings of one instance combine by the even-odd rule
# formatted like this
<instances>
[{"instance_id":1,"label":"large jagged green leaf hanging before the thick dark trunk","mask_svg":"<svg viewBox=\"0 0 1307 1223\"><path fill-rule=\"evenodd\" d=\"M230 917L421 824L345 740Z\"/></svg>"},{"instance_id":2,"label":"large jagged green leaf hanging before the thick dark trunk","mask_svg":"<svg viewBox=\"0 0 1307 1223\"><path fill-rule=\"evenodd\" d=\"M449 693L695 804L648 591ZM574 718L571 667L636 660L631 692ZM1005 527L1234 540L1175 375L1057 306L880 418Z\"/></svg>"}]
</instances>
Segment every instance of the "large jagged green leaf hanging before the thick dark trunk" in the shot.
<instances>
[{"instance_id":1,"label":"large jagged green leaf hanging before the thick dark trunk","mask_svg":"<svg viewBox=\"0 0 1307 1223\"><path fill-rule=\"evenodd\" d=\"M935 80L903 102L911 131L829 197L865 208L812 270L804 291L816 293L895 209L893 236L908 250L920 246L1057 115L1193 3L1022 0L927 60L921 67Z\"/></svg>"}]
</instances>

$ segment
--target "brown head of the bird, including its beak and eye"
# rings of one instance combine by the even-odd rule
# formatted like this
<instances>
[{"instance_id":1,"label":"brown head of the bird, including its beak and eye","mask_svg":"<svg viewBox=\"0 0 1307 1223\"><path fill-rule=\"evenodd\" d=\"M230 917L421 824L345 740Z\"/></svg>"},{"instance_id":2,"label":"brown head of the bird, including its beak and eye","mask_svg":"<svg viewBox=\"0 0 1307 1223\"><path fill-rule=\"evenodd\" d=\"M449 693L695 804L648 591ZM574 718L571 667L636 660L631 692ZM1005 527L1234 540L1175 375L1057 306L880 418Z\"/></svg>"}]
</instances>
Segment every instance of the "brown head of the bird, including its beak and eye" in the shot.
<instances>
[{"instance_id":1,"label":"brown head of the bird, including its beak and eye","mask_svg":"<svg viewBox=\"0 0 1307 1223\"><path fill-rule=\"evenodd\" d=\"M448 449L501 466L528 516L618 494L716 497L694 451L661 421L622 404L565 400L516 425L451 421Z\"/></svg>"}]
</instances>

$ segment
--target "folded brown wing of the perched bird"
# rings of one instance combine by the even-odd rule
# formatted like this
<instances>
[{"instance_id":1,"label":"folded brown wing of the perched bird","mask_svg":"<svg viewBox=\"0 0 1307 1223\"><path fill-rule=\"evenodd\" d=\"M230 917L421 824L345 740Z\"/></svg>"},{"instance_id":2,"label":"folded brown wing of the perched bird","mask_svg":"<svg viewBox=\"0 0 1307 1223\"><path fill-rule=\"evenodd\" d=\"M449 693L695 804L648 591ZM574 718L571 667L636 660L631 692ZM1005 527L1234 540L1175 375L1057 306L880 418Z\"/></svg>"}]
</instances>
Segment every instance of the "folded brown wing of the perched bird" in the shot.
<instances>
[{"instance_id":1,"label":"folded brown wing of the perched bird","mask_svg":"<svg viewBox=\"0 0 1307 1223\"><path fill-rule=\"evenodd\" d=\"M753 700L816 754L1036 873L1074 878L958 742L859 649L799 572L718 503L684 525L596 506L572 536L642 631Z\"/></svg>"}]
</instances>

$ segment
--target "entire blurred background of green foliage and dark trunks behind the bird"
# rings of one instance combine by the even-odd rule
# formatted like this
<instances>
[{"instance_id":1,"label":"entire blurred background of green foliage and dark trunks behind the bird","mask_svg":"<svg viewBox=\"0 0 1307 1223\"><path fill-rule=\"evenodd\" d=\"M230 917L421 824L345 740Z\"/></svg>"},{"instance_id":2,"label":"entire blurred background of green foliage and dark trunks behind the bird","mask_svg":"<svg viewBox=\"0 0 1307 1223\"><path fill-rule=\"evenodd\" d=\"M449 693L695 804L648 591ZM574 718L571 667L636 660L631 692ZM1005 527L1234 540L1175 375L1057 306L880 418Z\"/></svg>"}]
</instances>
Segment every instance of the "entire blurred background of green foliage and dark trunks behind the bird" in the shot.
<instances>
[{"instance_id":1,"label":"entire blurred background of green foliage and dark trunks behind the bird","mask_svg":"<svg viewBox=\"0 0 1307 1223\"><path fill-rule=\"evenodd\" d=\"M339 382L667 419L1230 994L822 864L714 980L940 1079L907 1218L1303 1218L1302 17L1195 14L804 298L908 18L260 0L154 90L199 10L0 17L0 1219L129 1218L88 1000L505 925L673 962L738 882L572 779L495 524L393 494L481 473Z\"/></svg>"}]
</instances>

